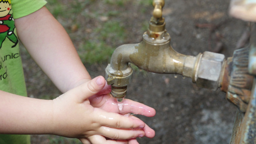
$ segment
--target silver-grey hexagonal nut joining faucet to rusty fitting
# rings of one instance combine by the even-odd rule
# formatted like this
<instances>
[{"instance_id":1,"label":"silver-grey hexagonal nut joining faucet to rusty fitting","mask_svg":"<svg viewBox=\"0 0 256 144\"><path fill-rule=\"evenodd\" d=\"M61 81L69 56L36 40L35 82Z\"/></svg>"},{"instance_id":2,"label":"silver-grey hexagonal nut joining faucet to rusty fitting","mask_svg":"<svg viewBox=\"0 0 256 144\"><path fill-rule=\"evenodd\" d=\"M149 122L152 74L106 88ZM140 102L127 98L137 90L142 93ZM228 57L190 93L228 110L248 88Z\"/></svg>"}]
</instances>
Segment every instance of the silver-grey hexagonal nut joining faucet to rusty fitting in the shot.
<instances>
[{"instance_id":1,"label":"silver-grey hexagonal nut joining faucet to rusty fitting","mask_svg":"<svg viewBox=\"0 0 256 144\"><path fill-rule=\"evenodd\" d=\"M220 76L225 56L220 53L203 52L196 72L198 87L216 90L220 85Z\"/></svg>"}]
</instances>

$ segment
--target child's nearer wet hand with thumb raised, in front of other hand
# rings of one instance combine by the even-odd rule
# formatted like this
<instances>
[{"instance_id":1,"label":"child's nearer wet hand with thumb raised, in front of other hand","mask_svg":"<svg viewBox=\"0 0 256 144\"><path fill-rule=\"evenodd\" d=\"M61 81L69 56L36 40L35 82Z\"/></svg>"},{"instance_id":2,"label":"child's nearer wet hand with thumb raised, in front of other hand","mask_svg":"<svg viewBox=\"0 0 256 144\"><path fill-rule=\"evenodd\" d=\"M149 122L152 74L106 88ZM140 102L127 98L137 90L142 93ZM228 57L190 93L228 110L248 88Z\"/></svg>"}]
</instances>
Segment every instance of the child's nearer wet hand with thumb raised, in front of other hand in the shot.
<instances>
[{"instance_id":1,"label":"child's nearer wet hand with thumb raised, in front of other hand","mask_svg":"<svg viewBox=\"0 0 256 144\"><path fill-rule=\"evenodd\" d=\"M149 130L150 128L148 126L145 127L144 122L138 118L113 113L118 112L117 106L117 109L115 109L105 108L108 103L99 104L98 106L101 108L94 108L90 105L88 98L100 92L104 86L105 79L102 76L98 76L54 99L53 134L65 137L77 137L83 143L107 144L125 142L121 140L128 140L135 137L143 137L145 136L144 131L153 131ZM124 106L122 113L143 113L142 110L128 110L127 108L132 107L133 105L131 104L133 103L128 100L126 103L130 106ZM134 104L135 106L139 106L135 102ZM94 105L96 105L95 101ZM110 107L112 106L110 105ZM144 115L153 116L154 114ZM108 137L108 139L105 137Z\"/></svg>"}]
</instances>

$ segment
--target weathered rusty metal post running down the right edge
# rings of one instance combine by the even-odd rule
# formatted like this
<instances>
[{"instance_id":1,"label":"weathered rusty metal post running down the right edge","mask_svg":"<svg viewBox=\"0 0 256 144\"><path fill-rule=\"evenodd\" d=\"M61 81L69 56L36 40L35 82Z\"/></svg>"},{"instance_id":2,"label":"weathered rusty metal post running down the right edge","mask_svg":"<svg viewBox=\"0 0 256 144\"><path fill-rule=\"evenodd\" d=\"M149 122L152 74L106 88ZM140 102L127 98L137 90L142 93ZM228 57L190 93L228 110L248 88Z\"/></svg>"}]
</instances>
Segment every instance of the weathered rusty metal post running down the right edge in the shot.
<instances>
[{"instance_id":1,"label":"weathered rusty metal post running down the right edge","mask_svg":"<svg viewBox=\"0 0 256 144\"><path fill-rule=\"evenodd\" d=\"M245 96L241 100L246 103L247 108L245 112L237 111L236 119L233 127L232 136L230 139L230 144L256 144L256 24L252 23L251 26L251 37L250 37L250 45L247 50L249 50L249 64L248 64L248 72L253 75L253 86L251 88L251 94L247 92L247 96ZM235 57L235 56L234 56ZM243 70L241 70L243 72ZM249 78L247 78L249 82ZM231 82L231 81L230 81ZM238 83L239 84L239 83ZM249 87L249 84L244 84L244 87ZM240 91L241 92L241 91Z\"/></svg>"}]
</instances>

